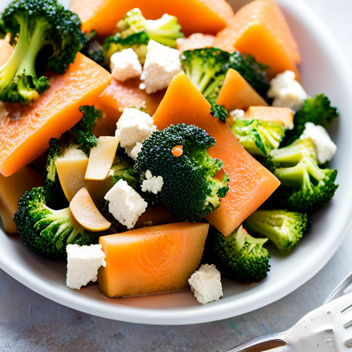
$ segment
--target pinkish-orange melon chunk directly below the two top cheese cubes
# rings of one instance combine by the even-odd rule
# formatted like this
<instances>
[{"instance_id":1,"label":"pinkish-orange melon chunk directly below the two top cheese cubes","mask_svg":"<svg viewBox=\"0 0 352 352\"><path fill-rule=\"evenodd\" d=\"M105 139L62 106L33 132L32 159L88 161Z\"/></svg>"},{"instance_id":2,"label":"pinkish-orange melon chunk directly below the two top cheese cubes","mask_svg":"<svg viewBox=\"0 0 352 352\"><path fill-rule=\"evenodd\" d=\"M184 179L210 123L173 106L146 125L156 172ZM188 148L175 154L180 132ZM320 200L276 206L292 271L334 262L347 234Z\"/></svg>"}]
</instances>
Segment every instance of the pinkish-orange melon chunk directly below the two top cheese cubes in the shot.
<instances>
[{"instance_id":1,"label":"pinkish-orange melon chunk directly below the two top cheese cubes","mask_svg":"<svg viewBox=\"0 0 352 352\"><path fill-rule=\"evenodd\" d=\"M146 94L145 89L140 89L140 83L142 81L137 78L126 80L124 83L114 79L111 81L94 104L97 109L102 110L102 118L94 127L96 135L115 135L116 122L126 107L142 108L149 115L155 113L165 90Z\"/></svg>"}]
</instances>

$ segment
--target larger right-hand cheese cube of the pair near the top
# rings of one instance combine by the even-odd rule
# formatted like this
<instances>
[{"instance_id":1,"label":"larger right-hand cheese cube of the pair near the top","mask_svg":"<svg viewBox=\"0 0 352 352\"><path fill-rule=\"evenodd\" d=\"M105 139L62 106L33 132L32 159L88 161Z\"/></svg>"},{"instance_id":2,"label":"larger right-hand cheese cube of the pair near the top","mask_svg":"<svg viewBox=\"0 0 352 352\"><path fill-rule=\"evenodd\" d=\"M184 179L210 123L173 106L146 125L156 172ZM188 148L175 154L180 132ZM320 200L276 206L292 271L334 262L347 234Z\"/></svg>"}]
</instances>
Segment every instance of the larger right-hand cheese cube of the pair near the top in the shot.
<instances>
[{"instance_id":1,"label":"larger right-hand cheese cube of the pair near the top","mask_svg":"<svg viewBox=\"0 0 352 352\"><path fill-rule=\"evenodd\" d=\"M171 80L182 71L180 52L156 41L149 41L143 67L146 93L165 89Z\"/></svg>"}]
</instances>

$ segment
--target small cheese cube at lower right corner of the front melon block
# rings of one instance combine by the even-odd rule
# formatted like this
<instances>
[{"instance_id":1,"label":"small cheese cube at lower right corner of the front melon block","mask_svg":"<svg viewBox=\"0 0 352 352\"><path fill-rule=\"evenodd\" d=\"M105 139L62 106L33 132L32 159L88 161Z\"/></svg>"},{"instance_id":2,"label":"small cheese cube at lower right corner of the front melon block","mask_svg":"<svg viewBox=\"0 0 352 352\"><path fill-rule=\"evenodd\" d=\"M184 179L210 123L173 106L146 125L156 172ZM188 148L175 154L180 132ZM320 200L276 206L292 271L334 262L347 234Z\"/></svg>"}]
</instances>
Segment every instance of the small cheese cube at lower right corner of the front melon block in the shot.
<instances>
[{"instance_id":1,"label":"small cheese cube at lower right corner of the front melon block","mask_svg":"<svg viewBox=\"0 0 352 352\"><path fill-rule=\"evenodd\" d=\"M223 296L221 276L214 264L199 267L188 280L195 298L202 305L219 300Z\"/></svg>"}]
</instances>

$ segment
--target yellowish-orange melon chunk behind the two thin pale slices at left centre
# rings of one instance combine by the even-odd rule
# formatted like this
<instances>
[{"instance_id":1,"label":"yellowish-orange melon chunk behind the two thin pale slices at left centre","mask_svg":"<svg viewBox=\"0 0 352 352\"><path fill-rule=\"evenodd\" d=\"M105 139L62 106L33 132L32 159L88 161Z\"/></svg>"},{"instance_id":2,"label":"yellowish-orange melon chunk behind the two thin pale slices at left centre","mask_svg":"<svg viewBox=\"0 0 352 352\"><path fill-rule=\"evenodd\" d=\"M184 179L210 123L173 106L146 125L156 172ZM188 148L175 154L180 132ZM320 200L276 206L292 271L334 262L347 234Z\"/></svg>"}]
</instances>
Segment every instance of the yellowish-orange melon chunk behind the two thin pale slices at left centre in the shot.
<instances>
[{"instance_id":1,"label":"yellowish-orange melon chunk behind the two thin pale slices at left centre","mask_svg":"<svg viewBox=\"0 0 352 352\"><path fill-rule=\"evenodd\" d=\"M113 186L111 178L102 181L85 179L88 157L77 148L68 148L55 162L58 179L68 201L72 201L81 188L87 188L98 208L104 205L104 196Z\"/></svg>"}]
</instances>

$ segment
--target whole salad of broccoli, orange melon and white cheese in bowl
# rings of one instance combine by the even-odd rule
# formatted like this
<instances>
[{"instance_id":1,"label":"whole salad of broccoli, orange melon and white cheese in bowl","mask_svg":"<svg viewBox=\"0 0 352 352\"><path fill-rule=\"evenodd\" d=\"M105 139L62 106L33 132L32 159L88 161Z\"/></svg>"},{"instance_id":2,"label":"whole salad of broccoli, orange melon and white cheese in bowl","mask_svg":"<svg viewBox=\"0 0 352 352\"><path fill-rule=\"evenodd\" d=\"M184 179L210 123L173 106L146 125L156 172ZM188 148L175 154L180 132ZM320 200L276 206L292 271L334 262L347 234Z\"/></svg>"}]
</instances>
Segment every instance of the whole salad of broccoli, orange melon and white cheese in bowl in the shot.
<instances>
[{"instance_id":1,"label":"whole salad of broccoli, orange melon and white cheese in bowl","mask_svg":"<svg viewBox=\"0 0 352 352\"><path fill-rule=\"evenodd\" d=\"M210 35L142 5L107 33L72 8L15 0L1 14L5 232L67 260L68 287L98 280L109 297L190 285L209 303L221 276L263 280L272 246L289 255L338 188L325 129L338 111L300 85L281 10L223 1Z\"/></svg>"}]
</instances>

